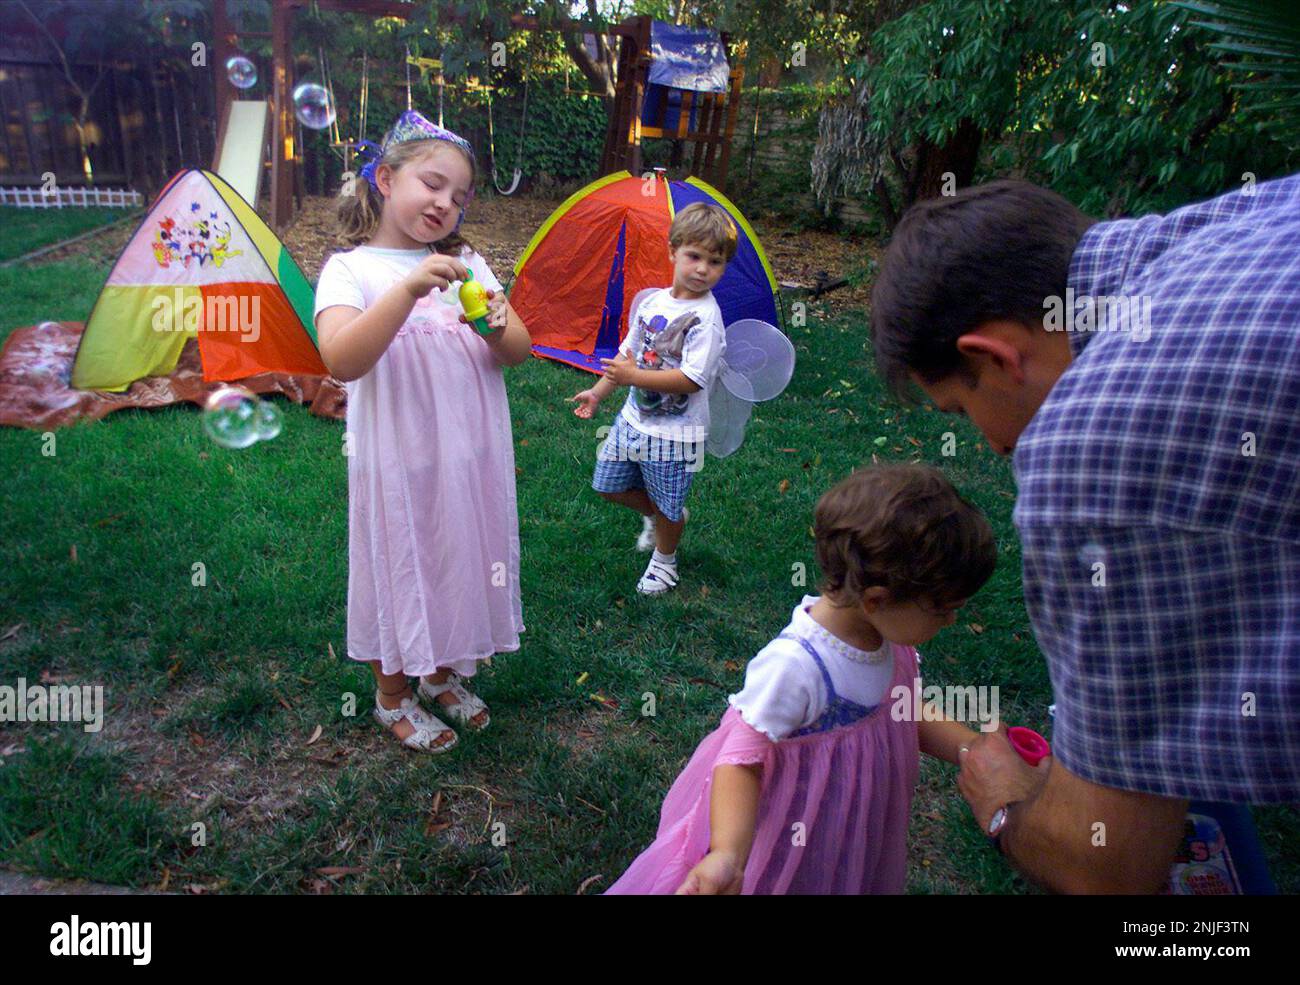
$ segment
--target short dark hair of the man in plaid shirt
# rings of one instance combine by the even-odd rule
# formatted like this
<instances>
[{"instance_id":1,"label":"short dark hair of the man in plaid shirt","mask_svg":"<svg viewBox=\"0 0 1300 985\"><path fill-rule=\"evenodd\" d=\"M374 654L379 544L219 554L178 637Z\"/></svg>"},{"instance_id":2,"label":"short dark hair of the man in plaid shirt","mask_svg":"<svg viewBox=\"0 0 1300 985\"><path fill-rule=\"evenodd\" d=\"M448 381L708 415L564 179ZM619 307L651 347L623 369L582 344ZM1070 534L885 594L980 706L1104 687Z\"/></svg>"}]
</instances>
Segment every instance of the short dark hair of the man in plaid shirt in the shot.
<instances>
[{"instance_id":1,"label":"short dark hair of the man in plaid shirt","mask_svg":"<svg viewBox=\"0 0 1300 985\"><path fill-rule=\"evenodd\" d=\"M1041 325L1044 299L1065 298L1070 257L1093 222L1054 191L1014 179L907 209L871 291L876 372L887 386L911 403L909 373L974 382L957 339L985 321Z\"/></svg>"}]
</instances>

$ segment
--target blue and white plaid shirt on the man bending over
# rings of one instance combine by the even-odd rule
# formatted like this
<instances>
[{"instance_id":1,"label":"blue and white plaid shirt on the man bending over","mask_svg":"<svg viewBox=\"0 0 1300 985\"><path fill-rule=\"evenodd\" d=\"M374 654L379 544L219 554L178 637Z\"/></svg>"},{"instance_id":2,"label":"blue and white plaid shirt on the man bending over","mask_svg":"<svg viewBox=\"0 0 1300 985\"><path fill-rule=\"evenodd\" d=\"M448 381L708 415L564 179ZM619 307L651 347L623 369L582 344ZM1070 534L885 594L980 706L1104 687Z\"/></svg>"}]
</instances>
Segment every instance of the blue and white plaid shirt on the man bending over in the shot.
<instances>
[{"instance_id":1,"label":"blue and white plaid shirt on the man bending over","mask_svg":"<svg viewBox=\"0 0 1300 985\"><path fill-rule=\"evenodd\" d=\"M1249 192L1084 234L1076 307L1135 303L1015 446L1053 751L1105 786L1300 800L1300 175Z\"/></svg>"}]
</instances>

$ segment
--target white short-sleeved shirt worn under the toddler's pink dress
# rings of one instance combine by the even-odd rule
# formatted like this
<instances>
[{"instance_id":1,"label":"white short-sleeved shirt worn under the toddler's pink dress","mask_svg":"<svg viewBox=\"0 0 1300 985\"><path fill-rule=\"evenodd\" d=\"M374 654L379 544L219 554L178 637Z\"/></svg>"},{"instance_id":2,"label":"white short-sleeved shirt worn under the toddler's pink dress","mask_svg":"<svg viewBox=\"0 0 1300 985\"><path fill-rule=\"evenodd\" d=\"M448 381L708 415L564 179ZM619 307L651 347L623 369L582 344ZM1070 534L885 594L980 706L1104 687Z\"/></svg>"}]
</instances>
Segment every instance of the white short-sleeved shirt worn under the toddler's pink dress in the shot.
<instances>
[{"instance_id":1,"label":"white short-sleeved shirt worn under the toddler's pink dress","mask_svg":"<svg viewBox=\"0 0 1300 985\"><path fill-rule=\"evenodd\" d=\"M883 703L894 677L889 641L870 654L850 646L807 613L818 598L805 595L781 632L796 633L816 648L841 698L867 708ZM727 700L750 728L776 742L822 717L831 695L809 651L797 639L777 638L749 661L745 686Z\"/></svg>"}]
</instances>

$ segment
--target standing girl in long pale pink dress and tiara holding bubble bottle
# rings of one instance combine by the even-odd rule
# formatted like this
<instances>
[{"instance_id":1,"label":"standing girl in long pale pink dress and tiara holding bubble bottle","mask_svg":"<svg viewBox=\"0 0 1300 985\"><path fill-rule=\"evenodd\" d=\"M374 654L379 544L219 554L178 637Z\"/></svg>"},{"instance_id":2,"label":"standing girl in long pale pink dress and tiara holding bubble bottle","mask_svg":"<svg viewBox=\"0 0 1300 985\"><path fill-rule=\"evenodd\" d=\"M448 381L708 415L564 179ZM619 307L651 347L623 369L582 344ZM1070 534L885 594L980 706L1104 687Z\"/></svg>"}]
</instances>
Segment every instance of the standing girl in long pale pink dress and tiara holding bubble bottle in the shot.
<instances>
[{"instance_id":1,"label":"standing girl in long pale pink dress and tiara holding bubble bottle","mask_svg":"<svg viewBox=\"0 0 1300 985\"><path fill-rule=\"evenodd\" d=\"M339 216L355 249L316 288L321 359L347 383L347 655L370 664L374 716L410 748L445 752L488 708L463 684L519 648L519 512L502 366L528 330L458 230L474 183L469 144L406 112ZM456 290L489 290L488 334Z\"/></svg>"}]
</instances>

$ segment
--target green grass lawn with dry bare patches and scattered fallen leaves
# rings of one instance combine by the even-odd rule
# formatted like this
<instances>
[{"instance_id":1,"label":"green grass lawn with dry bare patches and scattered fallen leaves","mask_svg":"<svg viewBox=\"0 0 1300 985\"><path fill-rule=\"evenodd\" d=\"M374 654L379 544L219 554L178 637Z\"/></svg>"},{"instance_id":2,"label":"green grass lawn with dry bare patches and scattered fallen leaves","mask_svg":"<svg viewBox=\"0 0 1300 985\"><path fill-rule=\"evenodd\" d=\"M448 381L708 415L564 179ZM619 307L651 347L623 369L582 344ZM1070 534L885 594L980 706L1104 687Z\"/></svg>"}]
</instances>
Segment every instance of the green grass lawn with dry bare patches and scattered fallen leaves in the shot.
<instances>
[{"instance_id":1,"label":"green grass lawn with dry bare patches and scattered fallen leaves","mask_svg":"<svg viewBox=\"0 0 1300 985\"><path fill-rule=\"evenodd\" d=\"M105 277L0 270L0 338L83 320ZM341 422L281 404L277 439L229 451L194 408L127 411L57 431L53 456L39 433L0 430L0 634L22 624L0 642L0 681L103 684L108 704L98 734L0 726L0 862L228 893L601 891L651 841L745 661L814 591L816 498L872 454L941 465L997 533L996 576L923 647L927 684L1001 685L1004 719L1046 729L1009 464L965 421L890 404L863 325L859 312L792 329L796 378L737 455L708 460L682 585L659 599L633 587L640 521L589 487L595 429L618 400L582 422L563 400L589 377L541 360L507 370L528 630L476 678L491 728L438 758L380 730L369 672L343 656ZM941 457L948 430L957 455ZM984 843L954 774L923 767L909 889L1030 891ZM1296 812L1257 817L1295 891Z\"/></svg>"}]
</instances>

